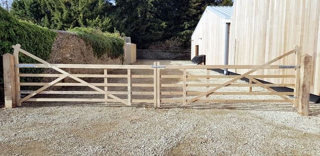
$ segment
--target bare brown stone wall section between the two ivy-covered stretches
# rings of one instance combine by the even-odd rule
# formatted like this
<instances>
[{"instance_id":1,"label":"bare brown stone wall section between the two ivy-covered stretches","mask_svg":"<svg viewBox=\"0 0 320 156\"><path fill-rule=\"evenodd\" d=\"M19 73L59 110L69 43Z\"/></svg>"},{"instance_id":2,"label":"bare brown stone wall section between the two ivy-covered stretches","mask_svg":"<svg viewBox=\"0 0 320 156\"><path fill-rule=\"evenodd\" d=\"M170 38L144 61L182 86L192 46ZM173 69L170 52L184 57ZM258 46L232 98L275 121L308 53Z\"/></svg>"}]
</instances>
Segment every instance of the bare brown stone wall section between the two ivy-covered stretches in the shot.
<instances>
[{"instance_id":1,"label":"bare brown stone wall section between the two ivy-covered stretches","mask_svg":"<svg viewBox=\"0 0 320 156\"><path fill-rule=\"evenodd\" d=\"M56 31L57 38L53 43L49 63L55 64L107 64L119 65L121 59L110 59L107 55L100 58L94 56L93 48L87 46L83 39L76 34L65 31ZM102 70L93 69L66 69L73 74L101 74ZM46 71L50 73L52 70Z\"/></svg>"}]
</instances>

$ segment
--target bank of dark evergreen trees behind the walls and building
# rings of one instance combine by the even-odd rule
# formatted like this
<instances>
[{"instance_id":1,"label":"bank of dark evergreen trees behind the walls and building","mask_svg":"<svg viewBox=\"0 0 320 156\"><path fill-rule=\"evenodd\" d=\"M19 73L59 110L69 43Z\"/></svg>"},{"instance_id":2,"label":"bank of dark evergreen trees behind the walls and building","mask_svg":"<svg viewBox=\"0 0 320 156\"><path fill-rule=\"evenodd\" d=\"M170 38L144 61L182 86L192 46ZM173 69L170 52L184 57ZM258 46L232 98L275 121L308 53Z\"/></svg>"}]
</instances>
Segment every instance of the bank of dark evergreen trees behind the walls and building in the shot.
<instances>
[{"instance_id":1,"label":"bank of dark evergreen trees behind the walls and building","mask_svg":"<svg viewBox=\"0 0 320 156\"><path fill-rule=\"evenodd\" d=\"M14 0L11 13L56 30L91 27L131 37L138 48L179 41L190 48L191 35L208 5L232 0ZM165 45L165 44L162 44Z\"/></svg>"}]
</instances>

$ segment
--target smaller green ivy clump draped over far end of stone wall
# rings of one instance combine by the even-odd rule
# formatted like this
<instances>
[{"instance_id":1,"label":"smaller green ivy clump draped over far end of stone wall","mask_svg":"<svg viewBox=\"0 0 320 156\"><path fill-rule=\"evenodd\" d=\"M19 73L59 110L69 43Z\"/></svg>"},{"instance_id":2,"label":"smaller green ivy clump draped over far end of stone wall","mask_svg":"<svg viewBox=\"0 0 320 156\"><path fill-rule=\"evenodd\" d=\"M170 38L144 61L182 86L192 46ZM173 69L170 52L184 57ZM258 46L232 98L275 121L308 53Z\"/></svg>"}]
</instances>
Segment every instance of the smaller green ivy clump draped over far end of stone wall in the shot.
<instances>
[{"instance_id":1,"label":"smaller green ivy clump draped over far end of stone wall","mask_svg":"<svg viewBox=\"0 0 320 156\"><path fill-rule=\"evenodd\" d=\"M76 33L87 45L92 46L97 57L107 54L108 57L116 59L124 54L125 40L120 36L120 33L101 32L93 28L83 27L76 27L69 29L69 31Z\"/></svg>"}]
</instances>

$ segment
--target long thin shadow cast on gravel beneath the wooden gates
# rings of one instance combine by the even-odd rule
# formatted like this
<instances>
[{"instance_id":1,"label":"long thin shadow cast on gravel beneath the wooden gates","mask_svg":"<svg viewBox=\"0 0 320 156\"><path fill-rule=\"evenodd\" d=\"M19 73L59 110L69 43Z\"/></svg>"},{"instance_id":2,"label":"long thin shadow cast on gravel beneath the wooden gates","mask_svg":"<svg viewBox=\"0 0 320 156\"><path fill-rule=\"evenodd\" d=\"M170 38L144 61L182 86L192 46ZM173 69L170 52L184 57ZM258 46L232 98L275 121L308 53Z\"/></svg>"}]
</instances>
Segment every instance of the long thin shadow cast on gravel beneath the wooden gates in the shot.
<instances>
[{"instance_id":1,"label":"long thin shadow cast on gravel beneath the wooden gates","mask_svg":"<svg viewBox=\"0 0 320 156\"><path fill-rule=\"evenodd\" d=\"M25 103L23 105L25 108L37 108L37 107L114 107L114 108L154 108L153 104L140 103L132 104L131 106L126 106L120 103L104 104L104 103L77 103L68 102L67 104L61 102L51 102L50 104L43 104L43 102L32 102ZM251 111L282 111L282 112L297 112L296 108L292 107L289 103L206 103L206 104L192 104L192 105L182 105L175 103L161 104L160 108L157 110L165 109L196 109L196 110L251 110ZM312 103L310 106L310 115L318 116L320 115L320 104Z\"/></svg>"}]
</instances>

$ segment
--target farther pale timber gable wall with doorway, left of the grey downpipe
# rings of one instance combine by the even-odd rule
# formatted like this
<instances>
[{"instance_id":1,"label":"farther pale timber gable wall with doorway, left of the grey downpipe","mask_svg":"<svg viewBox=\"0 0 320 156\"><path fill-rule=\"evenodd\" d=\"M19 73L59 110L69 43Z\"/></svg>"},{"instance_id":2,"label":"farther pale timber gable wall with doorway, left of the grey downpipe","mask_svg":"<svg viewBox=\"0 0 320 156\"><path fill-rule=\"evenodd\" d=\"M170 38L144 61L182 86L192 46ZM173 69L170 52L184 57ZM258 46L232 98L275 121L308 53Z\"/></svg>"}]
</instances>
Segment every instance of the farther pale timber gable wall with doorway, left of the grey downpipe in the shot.
<instances>
[{"instance_id":1,"label":"farther pale timber gable wall with doorway, left of the grey downpipe","mask_svg":"<svg viewBox=\"0 0 320 156\"><path fill-rule=\"evenodd\" d=\"M208 8L204 11L192 34L191 58L195 56L195 45L199 45L199 55L206 55L207 65L224 64L224 21Z\"/></svg>"}]
</instances>

